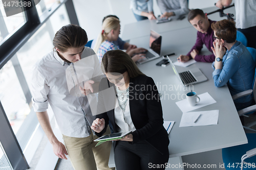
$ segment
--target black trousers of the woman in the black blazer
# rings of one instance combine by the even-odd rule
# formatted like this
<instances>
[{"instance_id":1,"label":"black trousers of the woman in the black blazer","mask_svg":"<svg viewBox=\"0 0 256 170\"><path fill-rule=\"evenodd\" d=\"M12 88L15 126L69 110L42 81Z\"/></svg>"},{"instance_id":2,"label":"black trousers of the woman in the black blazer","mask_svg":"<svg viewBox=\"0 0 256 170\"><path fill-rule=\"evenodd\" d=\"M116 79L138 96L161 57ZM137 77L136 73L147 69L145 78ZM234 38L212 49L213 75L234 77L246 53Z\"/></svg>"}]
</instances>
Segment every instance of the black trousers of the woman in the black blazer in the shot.
<instances>
[{"instance_id":1,"label":"black trousers of the woman in the black blazer","mask_svg":"<svg viewBox=\"0 0 256 170\"><path fill-rule=\"evenodd\" d=\"M161 142L161 141L159 141ZM117 141L115 148L115 164L117 170L145 170L165 169L165 163L168 162L169 151L166 147L166 151L162 155L152 145L146 141L130 144L127 141Z\"/></svg>"}]
</instances>

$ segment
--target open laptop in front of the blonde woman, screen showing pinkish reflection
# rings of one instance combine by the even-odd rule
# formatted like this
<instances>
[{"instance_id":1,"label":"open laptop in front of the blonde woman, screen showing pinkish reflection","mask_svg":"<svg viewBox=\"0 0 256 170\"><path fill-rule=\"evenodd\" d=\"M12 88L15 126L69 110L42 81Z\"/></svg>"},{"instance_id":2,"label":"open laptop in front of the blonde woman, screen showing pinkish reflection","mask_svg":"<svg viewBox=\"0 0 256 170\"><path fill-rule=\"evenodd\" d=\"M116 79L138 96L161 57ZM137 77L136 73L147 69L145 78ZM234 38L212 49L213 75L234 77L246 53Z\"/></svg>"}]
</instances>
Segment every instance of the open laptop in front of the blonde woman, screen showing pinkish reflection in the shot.
<instances>
[{"instance_id":1,"label":"open laptop in front of the blonde woman, screen showing pinkish reflection","mask_svg":"<svg viewBox=\"0 0 256 170\"><path fill-rule=\"evenodd\" d=\"M150 48L145 52L146 58L137 62L143 64L145 62L157 59L161 56L162 36L155 31L150 31Z\"/></svg>"}]
</instances>

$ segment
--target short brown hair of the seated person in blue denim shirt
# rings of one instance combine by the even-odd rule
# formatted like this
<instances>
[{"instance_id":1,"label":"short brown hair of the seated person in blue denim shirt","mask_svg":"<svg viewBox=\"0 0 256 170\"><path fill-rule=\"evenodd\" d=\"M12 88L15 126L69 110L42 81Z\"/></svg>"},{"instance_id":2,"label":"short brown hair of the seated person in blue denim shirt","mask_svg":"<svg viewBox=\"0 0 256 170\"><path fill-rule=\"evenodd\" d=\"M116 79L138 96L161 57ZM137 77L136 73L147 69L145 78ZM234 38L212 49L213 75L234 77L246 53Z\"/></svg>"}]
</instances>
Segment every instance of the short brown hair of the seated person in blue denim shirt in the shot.
<instances>
[{"instance_id":1,"label":"short brown hair of the seated person in blue denim shirt","mask_svg":"<svg viewBox=\"0 0 256 170\"><path fill-rule=\"evenodd\" d=\"M215 23L211 23L211 29L215 31L218 38L232 43L237 39L236 22L230 19L223 19Z\"/></svg>"}]
</instances>

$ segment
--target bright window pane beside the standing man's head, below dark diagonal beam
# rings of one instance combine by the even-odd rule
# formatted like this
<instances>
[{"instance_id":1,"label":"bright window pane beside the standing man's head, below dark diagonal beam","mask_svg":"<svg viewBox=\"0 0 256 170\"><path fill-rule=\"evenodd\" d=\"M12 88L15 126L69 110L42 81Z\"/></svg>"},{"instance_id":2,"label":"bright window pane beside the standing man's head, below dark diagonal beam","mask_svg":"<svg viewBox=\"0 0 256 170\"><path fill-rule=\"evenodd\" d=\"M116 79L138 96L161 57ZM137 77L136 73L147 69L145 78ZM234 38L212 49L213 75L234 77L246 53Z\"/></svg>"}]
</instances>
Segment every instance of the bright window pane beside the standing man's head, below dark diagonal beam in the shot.
<instances>
[{"instance_id":1,"label":"bright window pane beside the standing man's head, below dark diagonal beam","mask_svg":"<svg viewBox=\"0 0 256 170\"><path fill-rule=\"evenodd\" d=\"M52 40L55 33L69 23L66 8L62 5L16 53L30 89L33 65L53 49Z\"/></svg>"}]
</instances>

